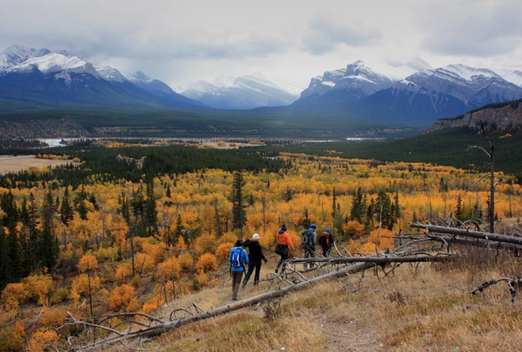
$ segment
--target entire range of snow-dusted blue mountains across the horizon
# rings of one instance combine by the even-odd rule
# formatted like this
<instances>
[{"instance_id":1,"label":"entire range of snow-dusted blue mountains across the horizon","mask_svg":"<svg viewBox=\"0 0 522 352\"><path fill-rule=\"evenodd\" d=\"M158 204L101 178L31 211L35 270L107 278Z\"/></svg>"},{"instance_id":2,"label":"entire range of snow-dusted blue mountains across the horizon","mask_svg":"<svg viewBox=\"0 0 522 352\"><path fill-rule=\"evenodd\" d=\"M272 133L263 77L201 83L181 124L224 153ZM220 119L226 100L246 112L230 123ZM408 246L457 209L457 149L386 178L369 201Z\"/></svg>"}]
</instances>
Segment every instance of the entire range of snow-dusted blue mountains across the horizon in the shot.
<instances>
[{"instance_id":1,"label":"entire range of snow-dusted blue mountains across the horizon","mask_svg":"<svg viewBox=\"0 0 522 352\"><path fill-rule=\"evenodd\" d=\"M421 58L404 65L356 61L313 77L300 92L261 73L220 77L176 88L142 72L87 62L68 51L11 46L0 53L0 111L110 106L176 110L251 109L298 122L303 115L427 125L488 103L522 98L522 64L433 68Z\"/></svg>"}]
</instances>

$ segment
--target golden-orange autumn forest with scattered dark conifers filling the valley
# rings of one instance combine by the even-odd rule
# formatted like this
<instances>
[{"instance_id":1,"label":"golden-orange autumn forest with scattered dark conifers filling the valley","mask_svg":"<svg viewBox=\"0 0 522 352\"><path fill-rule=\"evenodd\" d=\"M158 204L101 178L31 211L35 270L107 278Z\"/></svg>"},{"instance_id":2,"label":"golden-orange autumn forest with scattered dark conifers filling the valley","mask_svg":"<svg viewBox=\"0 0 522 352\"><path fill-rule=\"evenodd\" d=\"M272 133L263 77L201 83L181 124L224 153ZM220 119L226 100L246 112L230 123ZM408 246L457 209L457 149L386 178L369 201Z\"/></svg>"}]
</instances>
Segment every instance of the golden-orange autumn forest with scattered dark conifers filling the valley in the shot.
<instances>
[{"instance_id":1,"label":"golden-orange autumn forest with scattered dark conifers filling the valley","mask_svg":"<svg viewBox=\"0 0 522 352\"><path fill-rule=\"evenodd\" d=\"M282 224L294 244L315 222L349 252L368 254L393 249L391 234L412 232L409 222L488 220L489 183L476 170L335 151L138 144L42 149L39 158L70 163L0 177L0 350L86 339L87 327L57 329L68 311L87 320L153 315L220 284L236 239L259 233L272 253ZM521 185L496 176L497 227L520 225Z\"/></svg>"}]
</instances>

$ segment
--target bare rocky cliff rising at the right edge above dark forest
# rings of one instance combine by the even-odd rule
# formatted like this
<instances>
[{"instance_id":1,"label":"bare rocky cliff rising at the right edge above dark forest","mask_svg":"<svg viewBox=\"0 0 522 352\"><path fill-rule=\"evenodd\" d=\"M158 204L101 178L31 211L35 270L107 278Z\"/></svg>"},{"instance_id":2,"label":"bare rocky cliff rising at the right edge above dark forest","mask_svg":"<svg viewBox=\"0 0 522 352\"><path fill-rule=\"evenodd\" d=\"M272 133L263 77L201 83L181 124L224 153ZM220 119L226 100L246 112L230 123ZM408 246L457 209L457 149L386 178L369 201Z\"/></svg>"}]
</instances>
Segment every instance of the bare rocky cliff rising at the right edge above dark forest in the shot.
<instances>
[{"instance_id":1,"label":"bare rocky cliff rising at the right edge above dark forest","mask_svg":"<svg viewBox=\"0 0 522 352\"><path fill-rule=\"evenodd\" d=\"M443 130L445 128L469 127L480 128L480 121L490 130L511 130L522 128L522 100L508 103L504 106L485 107L471 111L466 115L453 119L442 119L431 125L425 133Z\"/></svg>"}]
</instances>

